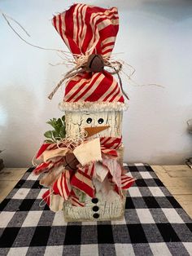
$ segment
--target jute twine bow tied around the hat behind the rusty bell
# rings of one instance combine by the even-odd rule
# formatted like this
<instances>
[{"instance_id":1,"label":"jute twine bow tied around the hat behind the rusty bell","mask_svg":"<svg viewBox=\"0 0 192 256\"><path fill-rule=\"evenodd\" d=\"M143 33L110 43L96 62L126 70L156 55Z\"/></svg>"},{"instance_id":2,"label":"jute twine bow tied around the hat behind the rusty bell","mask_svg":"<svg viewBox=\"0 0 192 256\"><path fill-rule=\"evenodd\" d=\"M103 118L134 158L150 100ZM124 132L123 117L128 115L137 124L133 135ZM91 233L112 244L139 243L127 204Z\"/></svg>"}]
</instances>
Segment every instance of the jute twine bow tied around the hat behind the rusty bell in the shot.
<instances>
[{"instance_id":1,"label":"jute twine bow tied around the hat behind the rusty bell","mask_svg":"<svg viewBox=\"0 0 192 256\"><path fill-rule=\"evenodd\" d=\"M55 95L55 92L59 89L60 86L62 86L63 82L65 82L67 79L75 77L79 73L92 72L92 69L88 65L89 58L91 56L92 55L74 55L76 66L74 68L72 68L71 70L69 70L68 73L66 73L64 75L64 77L59 81L57 86L55 86L55 89L52 90L52 92L48 96L48 99L53 98L53 96ZM116 74L118 76L119 82L120 82L120 89L121 89L123 95L127 99L129 99L128 95L125 93L125 91L123 89L122 81L120 78L120 71L122 69L123 64L120 63L120 61L111 61L109 56L107 56L107 57L101 56L101 55L95 55L95 56L99 56L99 59L102 60L101 64L103 65L103 68L107 67L107 68L111 69L111 70L107 70L108 73L111 73L112 75ZM100 71L100 69L101 68L99 67L98 70Z\"/></svg>"}]
</instances>

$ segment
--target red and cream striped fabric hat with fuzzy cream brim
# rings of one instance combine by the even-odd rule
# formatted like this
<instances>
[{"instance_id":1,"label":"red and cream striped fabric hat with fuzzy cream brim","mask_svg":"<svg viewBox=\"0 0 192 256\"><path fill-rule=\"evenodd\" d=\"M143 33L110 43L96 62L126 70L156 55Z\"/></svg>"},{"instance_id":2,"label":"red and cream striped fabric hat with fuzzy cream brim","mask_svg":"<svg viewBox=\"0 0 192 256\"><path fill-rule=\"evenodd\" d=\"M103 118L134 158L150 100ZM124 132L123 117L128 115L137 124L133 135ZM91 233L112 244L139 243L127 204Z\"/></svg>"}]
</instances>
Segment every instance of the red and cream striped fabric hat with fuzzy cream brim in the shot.
<instances>
[{"instance_id":1,"label":"red and cream striped fabric hat with fuzzy cream brim","mask_svg":"<svg viewBox=\"0 0 192 256\"><path fill-rule=\"evenodd\" d=\"M119 29L116 7L103 9L85 4L74 4L53 18L55 29L75 58L78 55L111 55ZM77 56L77 57L76 57ZM82 72L68 80L63 102L67 111L111 111L126 108L116 78L102 72Z\"/></svg>"}]
</instances>

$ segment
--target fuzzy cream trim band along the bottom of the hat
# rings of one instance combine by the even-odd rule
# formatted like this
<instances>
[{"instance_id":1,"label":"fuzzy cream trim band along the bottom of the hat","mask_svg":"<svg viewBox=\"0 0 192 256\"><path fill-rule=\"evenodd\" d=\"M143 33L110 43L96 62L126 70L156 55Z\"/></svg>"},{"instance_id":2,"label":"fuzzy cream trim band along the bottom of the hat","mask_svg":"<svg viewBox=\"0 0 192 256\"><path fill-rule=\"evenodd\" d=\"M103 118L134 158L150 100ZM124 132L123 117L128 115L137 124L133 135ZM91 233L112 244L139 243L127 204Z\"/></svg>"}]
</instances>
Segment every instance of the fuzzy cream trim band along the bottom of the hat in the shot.
<instances>
[{"instance_id":1,"label":"fuzzy cream trim band along the bottom of the hat","mask_svg":"<svg viewBox=\"0 0 192 256\"><path fill-rule=\"evenodd\" d=\"M124 111L127 110L128 105L121 102L89 102L89 101L77 101L77 102L61 102L59 103L59 109L61 111Z\"/></svg>"}]
</instances>

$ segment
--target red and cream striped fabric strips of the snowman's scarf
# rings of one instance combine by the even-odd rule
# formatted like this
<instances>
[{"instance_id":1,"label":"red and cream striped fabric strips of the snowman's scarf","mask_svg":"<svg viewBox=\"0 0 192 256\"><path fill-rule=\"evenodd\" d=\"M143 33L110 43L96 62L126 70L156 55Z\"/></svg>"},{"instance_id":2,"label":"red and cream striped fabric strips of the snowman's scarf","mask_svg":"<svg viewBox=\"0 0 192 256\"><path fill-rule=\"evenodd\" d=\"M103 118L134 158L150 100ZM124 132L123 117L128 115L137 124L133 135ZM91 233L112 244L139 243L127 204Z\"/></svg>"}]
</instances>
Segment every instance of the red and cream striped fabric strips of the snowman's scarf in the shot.
<instances>
[{"instance_id":1,"label":"red and cream striped fabric strips of the snowman's scarf","mask_svg":"<svg viewBox=\"0 0 192 256\"><path fill-rule=\"evenodd\" d=\"M128 189L132 184L134 179L132 177L129 177L127 174L124 174L120 164L116 162L116 165L121 172L121 177L120 177L120 184L116 183L114 177L111 175L111 170L110 167L104 164L104 159L113 159L117 161L117 149L120 148L121 145L121 138L112 138L112 137L103 137L100 138L100 143L101 143L101 150L102 150L102 155L103 155L103 168L107 170L108 178L111 183L113 183L113 188L114 191L117 192L120 196L122 196L122 189L126 190ZM63 145L64 146L64 145ZM41 157L43 152L46 150L52 150L56 149L57 145L56 144L51 144L51 143L46 143L43 144L40 148L40 150L37 152L37 158ZM64 157L64 156L63 156ZM62 158L59 159L59 164L63 164ZM54 162L54 159L49 162L44 162L41 163L39 166L36 167L35 170L33 170L34 174L40 174L41 172L48 172L49 170L52 170L52 168L58 165L58 161ZM72 202L72 205L76 206L84 206L81 201L79 201L78 196L76 196L76 193L74 192L73 188L77 188L81 190L81 192L84 192L86 195L90 197L95 196L95 188L93 184L93 178L94 178L94 173L95 173L95 163L92 162L89 165L86 166L81 166L79 167L76 172L70 171L70 170L65 170L63 167L63 172L59 175L59 178L55 181L53 184L52 188L49 189L49 192L46 192L42 198L46 201L46 203L49 205L50 203L50 197L49 193L54 192L56 195L62 196L64 201L70 200Z\"/></svg>"}]
</instances>

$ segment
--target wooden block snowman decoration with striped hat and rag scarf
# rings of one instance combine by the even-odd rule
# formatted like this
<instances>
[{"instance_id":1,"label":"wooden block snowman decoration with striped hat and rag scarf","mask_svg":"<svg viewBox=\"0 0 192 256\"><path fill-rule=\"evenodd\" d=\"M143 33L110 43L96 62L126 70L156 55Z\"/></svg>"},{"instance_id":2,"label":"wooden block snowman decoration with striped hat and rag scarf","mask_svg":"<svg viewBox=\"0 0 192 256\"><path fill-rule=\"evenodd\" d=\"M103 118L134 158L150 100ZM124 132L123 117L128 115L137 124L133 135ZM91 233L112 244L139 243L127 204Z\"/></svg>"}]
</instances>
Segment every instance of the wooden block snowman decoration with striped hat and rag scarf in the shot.
<instances>
[{"instance_id":1,"label":"wooden block snowman decoration with striped hat and rag scarf","mask_svg":"<svg viewBox=\"0 0 192 256\"><path fill-rule=\"evenodd\" d=\"M74 4L55 15L53 24L81 67L69 76L59 104L65 112L66 136L78 142L73 147L66 140L44 144L37 153L44 162L34 172L47 168L51 174L49 184L46 179L50 189L42 197L50 210L63 209L67 221L122 218L126 190L134 181L123 169L126 104L121 86L106 70L118 73L110 62L118 11Z\"/></svg>"}]
</instances>

